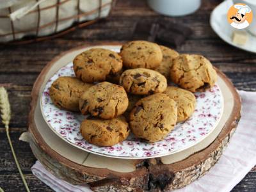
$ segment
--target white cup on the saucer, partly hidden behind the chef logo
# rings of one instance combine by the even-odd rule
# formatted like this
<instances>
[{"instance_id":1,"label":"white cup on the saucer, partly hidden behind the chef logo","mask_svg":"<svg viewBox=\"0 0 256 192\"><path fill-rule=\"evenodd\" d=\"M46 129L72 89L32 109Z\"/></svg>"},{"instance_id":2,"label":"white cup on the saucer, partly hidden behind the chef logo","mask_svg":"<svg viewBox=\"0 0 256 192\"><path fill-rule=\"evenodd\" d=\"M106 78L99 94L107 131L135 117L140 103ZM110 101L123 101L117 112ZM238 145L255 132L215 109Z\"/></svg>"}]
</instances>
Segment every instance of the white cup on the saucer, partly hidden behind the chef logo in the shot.
<instances>
[{"instance_id":1,"label":"white cup on the saucer, partly hidden behind the chef logo","mask_svg":"<svg viewBox=\"0 0 256 192\"><path fill-rule=\"evenodd\" d=\"M252 22L250 24L250 26L248 26L248 28L246 28L247 31L250 31L250 33L252 33L253 35L256 36L256 1L255 0L233 0L233 3L244 3L247 4L248 6L250 6L250 8L252 9L253 12L253 19Z\"/></svg>"}]
</instances>

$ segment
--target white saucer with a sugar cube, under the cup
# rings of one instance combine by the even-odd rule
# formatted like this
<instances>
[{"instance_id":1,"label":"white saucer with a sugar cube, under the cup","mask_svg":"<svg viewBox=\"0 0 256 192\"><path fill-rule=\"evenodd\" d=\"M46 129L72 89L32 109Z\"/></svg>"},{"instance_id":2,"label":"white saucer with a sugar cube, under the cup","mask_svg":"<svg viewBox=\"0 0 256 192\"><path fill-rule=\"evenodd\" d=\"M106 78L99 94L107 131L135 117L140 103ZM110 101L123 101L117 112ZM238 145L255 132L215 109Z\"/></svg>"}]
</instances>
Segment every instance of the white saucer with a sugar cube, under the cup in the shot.
<instances>
[{"instance_id":1,"label":"white saucer with a sugar cube, under the cup","mask_svg":"<svg viewBox=\"0 0 256 192\"><path fill-rule=\"evenodd\" d=\"M238 45L232 42L232 33L235 30L227 21L227 12L230 6L232 6L232 1L223 1L221 4L216 6L216 8L211 13L210 25L213 31L220 36L220 38L227 42L228 44L237 47L239 49L243 49L244 51L254 52L256 53L256 36L253 36L251 33L248 33L248 39L246 44ZM241 29L240 29L241 30Z\"/></svg>"}]
</instances>

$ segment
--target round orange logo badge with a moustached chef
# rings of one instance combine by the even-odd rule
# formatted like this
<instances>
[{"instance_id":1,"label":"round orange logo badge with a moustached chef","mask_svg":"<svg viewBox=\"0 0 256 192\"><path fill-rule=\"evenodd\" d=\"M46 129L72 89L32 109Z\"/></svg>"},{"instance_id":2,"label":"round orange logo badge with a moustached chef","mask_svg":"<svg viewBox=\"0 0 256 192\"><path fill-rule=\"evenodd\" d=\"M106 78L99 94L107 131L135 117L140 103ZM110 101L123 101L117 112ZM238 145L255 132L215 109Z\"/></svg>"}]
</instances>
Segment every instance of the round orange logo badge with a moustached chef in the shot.
<instances>
[{"instance_id":1,"label":"round orange logo badge with a moustached chef","mask_svg":"<svg viewBox=\"0 0 256 192\"><path fill-rule=\"evenodd\" d=\"M227 19L233 28L247 28L253 19L252 9L244 3L234 4L228 10Z\"/></svg>"}]
</instances>

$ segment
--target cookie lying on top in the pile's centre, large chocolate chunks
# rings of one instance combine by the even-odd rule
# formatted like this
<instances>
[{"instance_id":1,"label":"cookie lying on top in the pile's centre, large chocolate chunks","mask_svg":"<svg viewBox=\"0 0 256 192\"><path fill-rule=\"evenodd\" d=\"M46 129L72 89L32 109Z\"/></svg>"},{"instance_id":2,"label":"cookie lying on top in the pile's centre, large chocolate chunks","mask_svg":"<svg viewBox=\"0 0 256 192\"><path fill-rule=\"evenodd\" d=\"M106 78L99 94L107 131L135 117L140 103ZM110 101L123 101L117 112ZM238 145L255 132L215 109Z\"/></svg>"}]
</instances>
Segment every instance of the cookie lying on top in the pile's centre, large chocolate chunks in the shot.
<instances>
[{"instance_id":1,"label":"cookie lying on top in the pile's centre, large chocolate chunks","mask_svg":"<svg viewBox=\"0 0 256 192\"><path fill-rule=\"evenodd\" d=\"M162 93L166 90L166 78L147 68L134 68L125 70L120 77L120 82L125 90L135 95L147 95L148 93Z\"/></svg>"}]
</instances>

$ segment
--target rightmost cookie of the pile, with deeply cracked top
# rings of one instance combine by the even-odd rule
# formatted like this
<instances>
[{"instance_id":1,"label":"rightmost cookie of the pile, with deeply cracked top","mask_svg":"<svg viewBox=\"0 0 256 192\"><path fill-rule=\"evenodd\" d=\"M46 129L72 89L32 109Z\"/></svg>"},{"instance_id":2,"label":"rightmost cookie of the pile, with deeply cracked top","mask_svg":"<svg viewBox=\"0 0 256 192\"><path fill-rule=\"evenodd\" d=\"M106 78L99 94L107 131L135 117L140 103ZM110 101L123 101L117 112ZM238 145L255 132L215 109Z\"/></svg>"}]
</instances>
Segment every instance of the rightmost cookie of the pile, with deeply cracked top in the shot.
<instances>
[{"instance_id":1,"label":"rightmost cookie of the pile, with deeply cracked top","mask_svg":"<svg viewBox=\"0 0 256 192\"><path fill-rule=\"evenodd\" d=\"M173 60L170 77L173 83L190 92L204 92L216 83L217 73L204 56L180 54Z\"/></svg>"}]
</instances>

